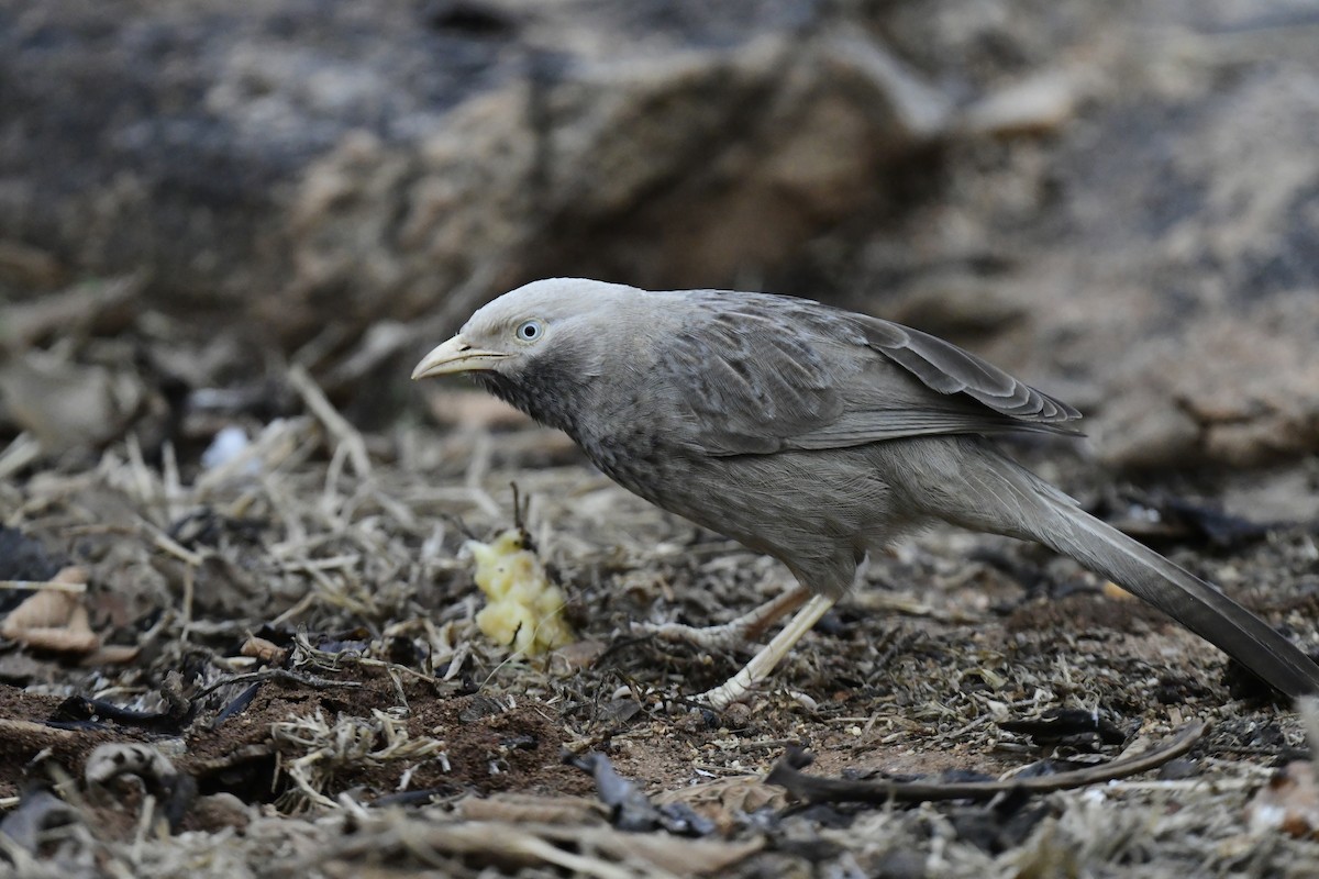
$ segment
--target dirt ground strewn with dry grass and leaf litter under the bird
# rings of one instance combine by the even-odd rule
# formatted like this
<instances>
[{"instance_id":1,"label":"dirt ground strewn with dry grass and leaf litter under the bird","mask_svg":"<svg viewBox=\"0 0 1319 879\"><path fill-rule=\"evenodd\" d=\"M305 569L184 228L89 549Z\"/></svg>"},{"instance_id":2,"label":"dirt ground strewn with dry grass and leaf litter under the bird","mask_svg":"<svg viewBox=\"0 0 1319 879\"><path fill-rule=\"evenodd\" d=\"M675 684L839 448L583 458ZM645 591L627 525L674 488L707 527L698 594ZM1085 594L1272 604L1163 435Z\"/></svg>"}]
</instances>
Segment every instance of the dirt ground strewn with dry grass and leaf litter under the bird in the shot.
<instances>
[{"instance_id":1,"label":"dirt ground strewn with dry grass and leaf litter under the bird","mask_svg":"<svg viewBox=\"0 0 1319 879\"><path fill-rule=\"evenodd\" d=\"M98 640L34 648L7 631L0 829L18 874L1302 876L1319 865L1303 825L1291 836L1249 805L1308 754L1302 717L1038 547L955 531L900 544L749 704L716 714L689 697L749 648L710 655L632 623L725 621L790 585L777 564L615 488L561 436L483 414L367 436L299 416L253 435L245 457L212 469L113 444L0 488L4 576L80 565ZM1312 523L1223 514L1241 485L1115 482L1071 441L1014 451L1319 646ZM1249 478L1285 492L1314 476ZM462 544L513 523L514 484L579 637L547 658L510 655L474 622ZM1076 714L1062 741L1012 725L1059 709L1109 734ZM764 781L790 746L820 776L1047 775L1041 760L1113 759L1194 721L1208 731L1159 770L1039 796L805 804ZM104 750L116 743L149 747ZM628 808L565 762L588 752L640 785L649 826L628 826Z\"/></svg>"}]
</instances>

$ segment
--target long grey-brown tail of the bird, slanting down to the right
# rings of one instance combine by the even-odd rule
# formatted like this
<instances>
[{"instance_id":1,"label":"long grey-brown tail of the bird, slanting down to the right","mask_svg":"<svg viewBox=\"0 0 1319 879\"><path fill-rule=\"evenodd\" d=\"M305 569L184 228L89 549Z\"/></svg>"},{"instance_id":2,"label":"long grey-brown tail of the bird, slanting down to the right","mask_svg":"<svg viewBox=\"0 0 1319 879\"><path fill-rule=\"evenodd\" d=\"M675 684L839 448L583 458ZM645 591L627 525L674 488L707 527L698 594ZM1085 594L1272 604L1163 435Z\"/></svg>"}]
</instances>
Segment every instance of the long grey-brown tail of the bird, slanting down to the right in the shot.
<instances>
[{"instance_id":1,"label":"long grey-brown tail of the bird, slanting down to the right","mask_svg":"<svg viewBox=\"0 0 1319 879\"><path fill-rule=\"evenodd\" d=\"M943 518L1043 543L1140 596L1282 693L1319 693L1319 666L1232 598L988 445L962 441L958 451L962 497L972 502Z\"/></svg>"}]
</instances>

